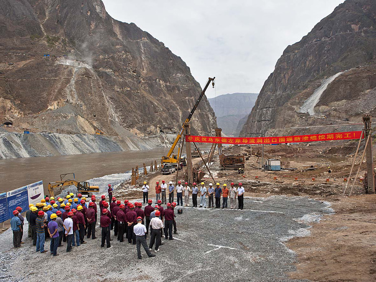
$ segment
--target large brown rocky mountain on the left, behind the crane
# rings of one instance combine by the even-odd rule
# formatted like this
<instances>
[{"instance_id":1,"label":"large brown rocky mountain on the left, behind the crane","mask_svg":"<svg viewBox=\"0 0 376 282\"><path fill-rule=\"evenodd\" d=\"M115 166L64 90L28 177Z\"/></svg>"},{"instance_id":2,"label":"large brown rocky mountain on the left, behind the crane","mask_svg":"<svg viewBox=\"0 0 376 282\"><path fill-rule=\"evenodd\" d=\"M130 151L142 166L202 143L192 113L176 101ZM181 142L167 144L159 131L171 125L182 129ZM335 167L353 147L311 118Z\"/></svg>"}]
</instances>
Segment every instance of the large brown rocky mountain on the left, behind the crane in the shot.
<instances>
[{"instance_id":1,"label":"large brown rocky mountain on the left, behind the crane","mask_svg":"<svg viewBox=\"0 0 376 282\"><path fill-rule=\"evenodd\" d=\"M101 0L0 1L0 123L13 131L97 130L122 149L152 147L180 129L200 92L180 57ZM213 134L205 97L191 125Z\"/></svg>"}]
</instances>

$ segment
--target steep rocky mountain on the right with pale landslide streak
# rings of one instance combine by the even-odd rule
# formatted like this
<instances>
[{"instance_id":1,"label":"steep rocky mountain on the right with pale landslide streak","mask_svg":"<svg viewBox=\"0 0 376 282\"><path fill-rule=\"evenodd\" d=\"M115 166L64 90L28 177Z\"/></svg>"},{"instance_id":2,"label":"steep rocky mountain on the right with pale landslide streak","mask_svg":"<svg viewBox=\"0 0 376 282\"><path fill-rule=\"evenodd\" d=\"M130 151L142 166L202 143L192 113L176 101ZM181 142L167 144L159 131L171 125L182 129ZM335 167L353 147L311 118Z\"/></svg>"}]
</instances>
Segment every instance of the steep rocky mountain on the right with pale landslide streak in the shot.
<instances>
[{"instance_id":1,"label":"steep rocky mountain on the right with pale landslide streak","mask_svg":"<svg viewBox=\"0 0 376 282\"><path fill-rule=\"evenodd\" d=\"M375 58L376 2L345 1L285 49L240 135L332 131L376 115Z\"/></svg>"}]
</instances>

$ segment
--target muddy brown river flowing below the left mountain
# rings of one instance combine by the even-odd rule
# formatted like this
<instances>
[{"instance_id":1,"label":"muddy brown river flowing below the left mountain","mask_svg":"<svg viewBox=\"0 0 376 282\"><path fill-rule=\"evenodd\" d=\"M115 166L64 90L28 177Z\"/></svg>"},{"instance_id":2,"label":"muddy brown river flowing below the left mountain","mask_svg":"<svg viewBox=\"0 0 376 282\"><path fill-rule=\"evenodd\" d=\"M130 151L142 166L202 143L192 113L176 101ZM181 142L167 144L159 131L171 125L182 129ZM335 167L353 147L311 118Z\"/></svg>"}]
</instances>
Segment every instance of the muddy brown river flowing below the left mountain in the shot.
<instances>
[{"instance_id":1,"label":"muddy brown river flowing below the left mountain","mask_svg":"<svg viewBox=\"0 0 376 282\"><path fill-rule=\"evenodd\" d=\"M158 148L145 151L0 160L0 192L8 192L43 180L44 190L47 193L49 182L60 180L60 174L70 172L75 173L75 179L78 181L102 178L101 183L98 183L98 180L90 181L91 185L105 185L104 182L117 184L121 179L128 178L130 173L126 172L136 166L142 168L142 164L145 163L147 167L150 167L154 160L159 164L161 156L165 155L167 151L168 148ZM103 178L105 175L113 176ZM72 179L72 177L70 178Z\"/></svg>"}]
</instances>

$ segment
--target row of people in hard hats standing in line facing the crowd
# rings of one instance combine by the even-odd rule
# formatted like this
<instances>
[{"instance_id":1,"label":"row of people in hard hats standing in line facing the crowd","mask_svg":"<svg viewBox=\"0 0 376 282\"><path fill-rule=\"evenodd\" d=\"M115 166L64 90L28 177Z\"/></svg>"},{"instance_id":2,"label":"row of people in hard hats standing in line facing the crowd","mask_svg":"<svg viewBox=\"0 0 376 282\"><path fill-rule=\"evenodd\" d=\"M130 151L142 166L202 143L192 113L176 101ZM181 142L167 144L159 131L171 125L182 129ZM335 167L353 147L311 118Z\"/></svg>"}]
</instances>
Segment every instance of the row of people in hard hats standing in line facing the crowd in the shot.
<instances>
[{"instance_id":1,"label":"row of people in hard hats standing in line facing the crowd","mask_svg":"<svg viewBox=\"0 0 376 282\"><path fill-rule=\"evenodd\" d=\"M221 198L222 198L222 208L228 207L228 198L230 197L230 209L236 209L236 198L238 199L238 209L243 209L243 194L244 187L242 183L239 183L238 187L235 187L234 182L231 182L231 187L227 187L227 184L223 184L221 188L220 183L213 184L209 183L209 188L205 187L205 183L201 182L201 187L199 188L196 182L193 183L193 187L188 185L187 182L184 183L184 186L181 184L181 181L177 182L176 187L173 185L172 181L169 182L168 186L165 180L162 180L160 185L159 181L156 181L155 184L155 199L161 200L162 204L167 204L166 193L168 193L168 203L174 202L174 192L176 191L177 196L177 205L183 206L183 197L184 197L184 206L190 205L190 196L192 194L193 207L197 207L197 196L200 193L200 207L207 207L206 199L209 201L209 208L214 208L214 198L215 198L215 208L221 208ZM144 203L148 200L149 186L147 182L144 181L142 186L143 191L143 200Z\"/></svg>"}]
</instances>

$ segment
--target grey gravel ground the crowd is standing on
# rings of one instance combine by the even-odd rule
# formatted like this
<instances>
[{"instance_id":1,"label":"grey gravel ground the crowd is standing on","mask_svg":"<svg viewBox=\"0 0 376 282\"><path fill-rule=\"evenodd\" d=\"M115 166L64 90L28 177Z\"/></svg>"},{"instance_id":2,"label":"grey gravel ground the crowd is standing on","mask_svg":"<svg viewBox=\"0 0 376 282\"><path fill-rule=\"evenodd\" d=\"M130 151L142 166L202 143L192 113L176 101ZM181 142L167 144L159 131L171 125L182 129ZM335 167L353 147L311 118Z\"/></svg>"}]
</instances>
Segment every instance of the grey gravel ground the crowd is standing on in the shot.
<instances>
[{"instance_id":1,"label":"grey gravel ground the crowd is standing on","mask_svg":"<svg viewBox=\"0 0 376 282\"><path fill-rule=\"evenodd\" d=\"M294 271L295 253L285 241L309 235L311 223L332 209L307 197L245 198L244 210L183 208L176 215L178 235L164 240L155 258L137 259L136 247L113 240L101 248L100 239L59 256L35 252L26 232L19 249L12 248L12 231L0 235L0 279L138 281L284 281ZM25 221L26 223L26 221ZM25 226L25 230L27 226ZM97 237L100 237L97 225ZM113 233L112 233L113 237ZM149 239L149 238L148 238ZM45 248L49 249L49 241Z\"/></svg>"}]
</instances>

